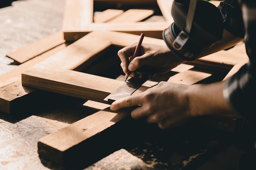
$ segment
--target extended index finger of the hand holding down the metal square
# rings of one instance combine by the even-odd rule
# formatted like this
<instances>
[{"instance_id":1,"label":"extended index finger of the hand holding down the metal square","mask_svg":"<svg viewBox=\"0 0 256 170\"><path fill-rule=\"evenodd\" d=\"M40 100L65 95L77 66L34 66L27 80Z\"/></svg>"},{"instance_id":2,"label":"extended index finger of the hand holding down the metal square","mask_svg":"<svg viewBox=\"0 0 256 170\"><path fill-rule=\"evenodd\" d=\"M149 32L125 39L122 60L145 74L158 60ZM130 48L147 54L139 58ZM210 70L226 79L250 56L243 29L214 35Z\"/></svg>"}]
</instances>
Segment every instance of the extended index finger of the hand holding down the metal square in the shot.
<instances>
[{"instance_id":1,"label":"extended index finger of the hand holding down the metal square","mask_svg":"<svg viewBox=\"0 0 256 170\"><path fill-rule=\"evenodd\" d=\"M120 108L127 108L132 106L141 105L140 94L134 96L124 97L122 99L116 100L110 105L111 110L119 110Z\"/></svg>"}]
</instances>

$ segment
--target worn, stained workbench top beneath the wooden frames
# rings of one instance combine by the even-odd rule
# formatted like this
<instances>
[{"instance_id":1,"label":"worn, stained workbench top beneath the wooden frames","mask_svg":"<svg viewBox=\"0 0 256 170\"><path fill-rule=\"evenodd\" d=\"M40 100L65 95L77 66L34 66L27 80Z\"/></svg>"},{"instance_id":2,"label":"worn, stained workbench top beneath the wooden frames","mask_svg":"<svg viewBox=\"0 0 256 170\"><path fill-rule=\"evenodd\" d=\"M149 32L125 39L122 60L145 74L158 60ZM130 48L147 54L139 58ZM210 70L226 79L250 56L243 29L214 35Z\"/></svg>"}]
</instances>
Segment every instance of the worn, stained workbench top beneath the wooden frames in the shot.
<instances>
[{"instance_id":1,"label":"worn, stained workbench top beneath the wooden frames","mask_svg":"<svg viewBox=\"0 0 256 170\"><path fill-rule=\"evenodd\" d=\"M64 6L63 0L18 0L0 9L0 75L18 66L6 57L8 53L61 31ZM27 108L28 113L23 108L21 116L0 113L1 170L68 169L38 157L38 139L98 111L81 105L85 99L42 94L41 101L50 95L56 102L53 105L41 102L36 109ZM114 131L110 137L116 141L108 143L107 151L102 150L110 154L85 164L82 169L196 170L231 146L233 137L232 132L198 122L196 119L172 130L160 130L144 120L132 125L124 122L125 133ZM77 165L70 169L75 168Z\"/></svg>"}]
</instances>

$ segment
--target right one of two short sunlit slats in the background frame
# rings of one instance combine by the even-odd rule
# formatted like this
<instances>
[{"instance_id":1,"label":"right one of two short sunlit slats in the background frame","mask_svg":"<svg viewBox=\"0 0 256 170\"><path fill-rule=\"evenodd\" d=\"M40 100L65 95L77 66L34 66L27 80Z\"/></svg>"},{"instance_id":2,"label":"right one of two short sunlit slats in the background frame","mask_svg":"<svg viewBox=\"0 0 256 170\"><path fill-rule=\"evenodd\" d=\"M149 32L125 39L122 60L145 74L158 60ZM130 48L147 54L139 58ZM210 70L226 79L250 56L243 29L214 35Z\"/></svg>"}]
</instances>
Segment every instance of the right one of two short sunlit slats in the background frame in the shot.
<instances>
[{"instance_id":1,"label":"right one of two short sunlit slats in the background frame","mask_svg":"<svg viewBox=\"0 0 256 170\"><path fill-rule=\"evenodd\" d=\"M139 22L153 15L154 11L150 9L128 9L108 22Z\"/></svg>"}]
</instances>

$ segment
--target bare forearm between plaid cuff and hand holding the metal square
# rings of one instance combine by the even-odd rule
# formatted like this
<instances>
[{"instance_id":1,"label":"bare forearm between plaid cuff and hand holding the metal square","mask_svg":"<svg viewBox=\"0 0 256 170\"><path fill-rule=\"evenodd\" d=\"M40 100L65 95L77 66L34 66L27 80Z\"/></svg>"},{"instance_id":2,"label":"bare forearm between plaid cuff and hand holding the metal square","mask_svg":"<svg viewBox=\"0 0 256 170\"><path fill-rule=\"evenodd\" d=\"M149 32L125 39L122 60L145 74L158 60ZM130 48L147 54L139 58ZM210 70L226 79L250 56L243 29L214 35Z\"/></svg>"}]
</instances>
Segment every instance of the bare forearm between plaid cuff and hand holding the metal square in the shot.
<instances>
[{"instance_id":1,"label":"bare forearm between plaid cuff and hand holding the metal square","mask_svg":"<svg viewBox=\"0 0 256 170\"><path fill-rule=\"evenodd\" d=\"M212 84L194 84L186 93L189 96L189 108L192 116L241 117L225 101L222 93L223 82Z\"/></svg>"}]
</instances>

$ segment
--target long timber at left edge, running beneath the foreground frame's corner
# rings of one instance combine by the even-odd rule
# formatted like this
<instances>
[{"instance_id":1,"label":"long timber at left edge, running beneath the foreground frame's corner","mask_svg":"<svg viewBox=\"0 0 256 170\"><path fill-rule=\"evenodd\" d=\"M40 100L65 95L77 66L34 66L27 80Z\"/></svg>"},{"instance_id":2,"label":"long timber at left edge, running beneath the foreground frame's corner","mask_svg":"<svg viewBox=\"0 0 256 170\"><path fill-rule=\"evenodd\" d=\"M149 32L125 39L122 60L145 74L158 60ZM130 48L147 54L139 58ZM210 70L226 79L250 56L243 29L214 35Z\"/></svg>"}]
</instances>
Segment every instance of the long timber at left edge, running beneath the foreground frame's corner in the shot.
<instances>
[{"instance_id":1,"label":"long timber at left edge, running beneath the foreground frame's corner","mask_svg":"<svg viewBox=\"0 0 256 170\"><path fill-rule=\"evenodd\" d=\"M45 60L47 57L63 50L65 47L66 44L61 44L38 57L20 64L11 71L0 75L0 91L2 92L0 93L0 111L8 114L15 114L17 111L21 111L21 108L24 108L24 110L27 110L26 107L31 108L31 106L28 105L34 100L31 100L29 103L26 101L29 101L29 98L32 96L35 97L34 95L29 95L29 93L34 92L35 89L22 86L21 73ZM38 102L39 101L40 100L38 99Z\"/></svg>"}]
</instances>

